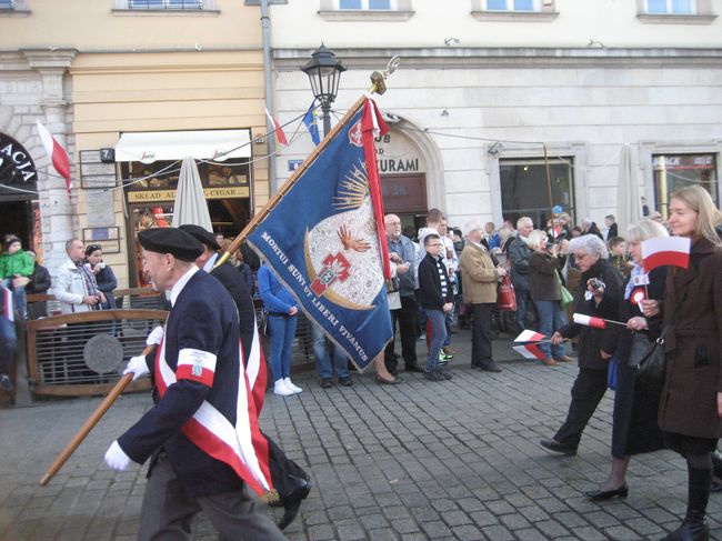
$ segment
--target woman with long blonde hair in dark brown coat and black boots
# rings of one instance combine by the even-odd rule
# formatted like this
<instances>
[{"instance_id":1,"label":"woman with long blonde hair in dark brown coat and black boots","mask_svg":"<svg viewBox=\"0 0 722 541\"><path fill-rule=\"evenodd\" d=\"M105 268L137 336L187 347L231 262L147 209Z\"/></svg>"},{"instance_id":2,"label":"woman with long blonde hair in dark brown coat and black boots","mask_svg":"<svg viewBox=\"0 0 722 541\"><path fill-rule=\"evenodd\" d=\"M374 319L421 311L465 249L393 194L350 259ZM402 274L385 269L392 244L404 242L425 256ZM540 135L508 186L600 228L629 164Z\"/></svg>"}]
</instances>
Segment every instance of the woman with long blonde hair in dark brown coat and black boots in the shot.
<instances>
[{"instance_id":1,"label":"woman with long blonde hair in dark brown coat and black boots","mask_svg":"<svg viewBox=\"0 0 722 541\"><path fill-rule=\"evenodd\" d=\"M670 198L672 234L692 241L688 269L672 267L664 301L644 301L646 318L663 315L666 371L659 424L670 449L686 459L684 521L664 539L708 540L712 455L722 435L722 216L709 192L690 186ZM652 321L654 323L654 321Z\"/></svg>"}]
</instances>

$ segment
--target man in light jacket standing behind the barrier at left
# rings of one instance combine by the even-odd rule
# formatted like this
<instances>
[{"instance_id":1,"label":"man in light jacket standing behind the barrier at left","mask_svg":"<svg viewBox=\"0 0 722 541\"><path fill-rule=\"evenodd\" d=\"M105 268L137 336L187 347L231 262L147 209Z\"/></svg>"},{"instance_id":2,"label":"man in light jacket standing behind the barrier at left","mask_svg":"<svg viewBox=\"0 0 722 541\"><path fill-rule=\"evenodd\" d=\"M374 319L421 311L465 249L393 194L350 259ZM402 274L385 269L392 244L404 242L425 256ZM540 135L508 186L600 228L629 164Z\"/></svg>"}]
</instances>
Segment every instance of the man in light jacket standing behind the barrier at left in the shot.
<instances>
[{"instance_id":1,"label":"man in light jacket standing behind the barrier at left","mask_svg":"<svg viewBox=\"0 0 722 541\"><path fill-rule=\"evenodd\" d=\"M98 290L96 277L84 267L86 252L80 239L66 242L68 260L60 267L52 294L60 301L62 313L96 310L106 297Z\"/></svg>"}]
</instances>

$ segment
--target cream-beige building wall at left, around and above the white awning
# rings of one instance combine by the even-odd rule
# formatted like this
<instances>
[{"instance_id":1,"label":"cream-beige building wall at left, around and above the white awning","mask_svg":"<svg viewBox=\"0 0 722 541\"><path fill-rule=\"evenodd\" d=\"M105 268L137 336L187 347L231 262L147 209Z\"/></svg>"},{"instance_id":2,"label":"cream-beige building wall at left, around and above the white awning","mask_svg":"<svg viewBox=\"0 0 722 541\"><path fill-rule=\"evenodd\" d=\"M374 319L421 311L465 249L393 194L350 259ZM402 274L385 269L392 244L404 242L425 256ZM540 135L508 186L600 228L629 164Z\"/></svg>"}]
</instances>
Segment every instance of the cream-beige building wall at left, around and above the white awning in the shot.
<instances>
[{"instance_id":1,"label":"cream-beige building wall at left, around and above the white awning","mask_svg":"<svg viewBox=\"0 0 722 541\"><path fill-rule=\"evenodd\" d=\"M81 151L114 147L122 132L250 129L257 136L267 131L258 7L213 0L204 2L203 11L117 9L123 4L121 0L32 0L19 2L13 13L0 14L0 59L8 51L8 60L0 62L0 81L32 79L56 88L50 99L34 88L22 111L36 111L74 163L80 162ZM50 76L33 69L26 51L32 58L63 51L62 64L52 70L52 84ZM49 266L56 267L64 258L64 240L88 227L89 198L98 192L81 189L80 171L73 166L73 193L61 204L70 217L60 227L54 223L53 211L63 194L59 182L42 172L48 171L48 161L31 117L26 118L28 127L21 134L27 137L26 148L37 150L33 158L42 168L43 251ZM252 146L251 212L269 198L265 153L264 143ZM119 166L117 174L120 178ZM51 183L58 186L48 200L42 190ZM122 188L113 190L121 252L106 257L119 288L129 285L123 197Z\"/></svg>"}]
</instances>

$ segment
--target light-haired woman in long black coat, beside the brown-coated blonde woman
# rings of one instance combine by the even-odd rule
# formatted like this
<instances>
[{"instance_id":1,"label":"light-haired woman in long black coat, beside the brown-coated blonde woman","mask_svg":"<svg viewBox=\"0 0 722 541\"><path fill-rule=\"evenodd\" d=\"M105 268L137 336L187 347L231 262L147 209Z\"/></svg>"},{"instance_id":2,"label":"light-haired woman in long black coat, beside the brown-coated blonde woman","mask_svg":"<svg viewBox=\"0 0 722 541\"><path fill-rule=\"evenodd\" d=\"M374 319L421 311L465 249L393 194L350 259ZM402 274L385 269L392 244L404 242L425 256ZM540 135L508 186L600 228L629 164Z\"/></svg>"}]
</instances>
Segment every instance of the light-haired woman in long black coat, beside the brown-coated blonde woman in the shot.
<instances>
[{"instance_id":1,"label":"light-haired woman in long black coat, beside the brown-coated blonde woman","mask_svg":"<svg viewBox=\"0 0 722 541\"><path fill-rule=\"evenodd\" d=\"M653 333L645 329L646 320L642 317L640 301L641 298L663 299L666 279L666 268L658 267L646 274L648 285L635 285L634 282L643 282L645 275L641 243L648 239L668 236L666 229L652 220L641 220L626 232L629 252L634 266L622 290L620 304L620 321L628 322L628 328L620 331L616 345L619 373L612 424L612 471L600 490L586 492L592 500L626 497L629 488L624 478L631 455L664 448L662 431L656 424L660 389L649 389L638 384L636 368L629 365L629 361L632 340L642 341L642 350L644 350L645 343L658 338L659 332ZM639 362L639 359L632 359L632 364L634 362Z\"/></svg>"}]
</instances>

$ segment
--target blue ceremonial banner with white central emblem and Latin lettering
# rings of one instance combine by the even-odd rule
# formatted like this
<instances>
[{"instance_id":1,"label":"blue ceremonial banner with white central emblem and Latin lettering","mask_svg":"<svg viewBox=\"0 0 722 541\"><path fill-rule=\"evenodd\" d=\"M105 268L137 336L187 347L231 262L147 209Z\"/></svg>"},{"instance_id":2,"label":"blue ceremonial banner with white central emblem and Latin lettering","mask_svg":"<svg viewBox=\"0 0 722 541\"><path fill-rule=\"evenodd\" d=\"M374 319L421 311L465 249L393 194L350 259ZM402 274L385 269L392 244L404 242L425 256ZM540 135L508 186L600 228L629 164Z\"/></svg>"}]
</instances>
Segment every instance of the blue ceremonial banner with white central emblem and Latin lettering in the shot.
<instances>
[{"instance_id":1,"label":"blue ceremonial banner with white central emblem and Latin lettering","mask_svg":"<svg viewBox=\"0 0 722 541\"><path fill-rule=\"evenodd\" d=\"M347 116L248 236L307 317L360 369L392 337L378 169L373 158L367 168L364 157L373 157L372 150L364 154L364 142L373 144L372 133L362 130L362 117L373 116L371 109L375 106L367 103Z\"/></svg>"}]
</instances>

